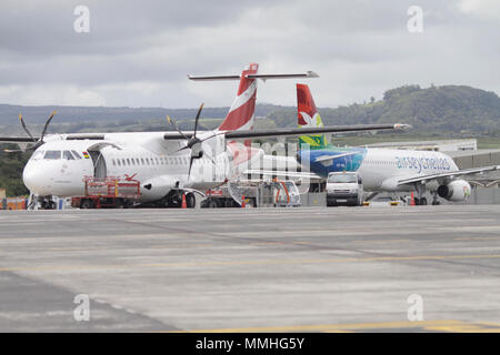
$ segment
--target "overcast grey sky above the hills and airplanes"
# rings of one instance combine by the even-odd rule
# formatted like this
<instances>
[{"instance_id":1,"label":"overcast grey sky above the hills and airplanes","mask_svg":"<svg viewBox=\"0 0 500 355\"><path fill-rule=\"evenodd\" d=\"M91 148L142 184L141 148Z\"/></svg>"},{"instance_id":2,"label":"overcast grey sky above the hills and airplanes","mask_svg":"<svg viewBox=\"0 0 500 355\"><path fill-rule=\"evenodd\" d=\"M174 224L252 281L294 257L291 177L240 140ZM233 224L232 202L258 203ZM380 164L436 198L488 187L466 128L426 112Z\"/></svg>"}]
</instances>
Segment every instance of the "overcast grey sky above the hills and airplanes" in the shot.
<instances>
[{"instance_id":1,"label":"overcast grey sky above the hills and airplanes","mask_svg":"<svg viewBox=\"0 0 500 355\"><path fill-rule=\"evenodd\" d=\"M77 6L90 32L73 29ZM423 31L410 33L410 6ZM230 105L237 82L187 74L313 70L317 104L382 98L402 84L500 93L499 0L1 0L0 103ZM259 83L258 101L296 104L293 80Z\"/></svg>"}]
</instances>

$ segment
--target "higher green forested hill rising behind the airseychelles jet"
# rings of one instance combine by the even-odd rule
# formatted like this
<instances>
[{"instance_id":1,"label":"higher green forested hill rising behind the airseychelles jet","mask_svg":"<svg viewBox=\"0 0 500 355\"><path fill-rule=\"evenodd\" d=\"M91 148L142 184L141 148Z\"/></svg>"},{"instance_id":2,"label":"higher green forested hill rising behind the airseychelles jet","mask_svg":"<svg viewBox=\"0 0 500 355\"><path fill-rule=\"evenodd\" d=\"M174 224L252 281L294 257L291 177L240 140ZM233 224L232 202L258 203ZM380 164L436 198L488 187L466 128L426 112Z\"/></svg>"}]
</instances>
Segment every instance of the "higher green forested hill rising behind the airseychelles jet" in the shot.
<instances>
[{"instance_id":1,"label":"higher green forested hill rising behind the airseychelles jet","mask_svg":"<svg viewBox=\"0 0 500 355\"><path fill-rule=\"evenodd\" d=\"M402 122L421 132L500 133L500 98L494 92L463 85L406 85L371 101L319 111L324 124ZM293 109L283 108L269 116L277 125L293 126L296 114Z\"/></svg>"}]
</instances>

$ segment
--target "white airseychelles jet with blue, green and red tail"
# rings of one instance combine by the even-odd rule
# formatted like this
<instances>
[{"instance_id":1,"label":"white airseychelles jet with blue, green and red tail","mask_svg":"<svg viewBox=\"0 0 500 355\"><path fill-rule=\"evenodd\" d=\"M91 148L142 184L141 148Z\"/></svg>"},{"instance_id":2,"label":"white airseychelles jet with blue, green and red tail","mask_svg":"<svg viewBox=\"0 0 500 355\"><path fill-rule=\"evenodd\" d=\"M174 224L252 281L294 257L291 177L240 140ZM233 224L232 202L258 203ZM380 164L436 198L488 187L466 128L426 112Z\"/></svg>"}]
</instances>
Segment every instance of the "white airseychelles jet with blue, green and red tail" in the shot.
<instances>
[{"instance_id":1,"label":"white airseychelles jet with blue, green and red tail","mask_svg":"<svg viewBox=\"0 0 500 355\"><path fill-rule=\"evenodd\" d=\"M322 128L309 87L297 84L298 125L303 129ZM298 160L311 172L328 176L330 172L356 171L363 189L377 192L417 192L416 204L427 204L423 196L430 191L432 204L438 196L448 201L463 201L470 196L464 175L500 169L500 165L459 170L447 154L433 151L390 150L374 148L337 148L324 134L302 135Z\"/></svg>"}]
</instances>

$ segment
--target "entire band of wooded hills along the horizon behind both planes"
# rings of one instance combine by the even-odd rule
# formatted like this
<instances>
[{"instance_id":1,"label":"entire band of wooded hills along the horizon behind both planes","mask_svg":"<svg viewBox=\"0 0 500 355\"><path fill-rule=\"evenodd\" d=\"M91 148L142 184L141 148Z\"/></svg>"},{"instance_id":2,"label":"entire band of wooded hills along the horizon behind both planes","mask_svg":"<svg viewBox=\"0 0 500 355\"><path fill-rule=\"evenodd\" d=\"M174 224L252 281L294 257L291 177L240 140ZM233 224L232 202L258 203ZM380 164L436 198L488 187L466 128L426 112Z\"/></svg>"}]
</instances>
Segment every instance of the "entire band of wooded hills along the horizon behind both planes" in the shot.
<instances>
[{"instance_id":1,"label":"entire band of wooded hills along the horizon behind both planes","mask_svg":"<svg viewBox=\"0 0 500 355\"><path fill-rule=\"evenodd\" d=\"M163 108L92 108L92 106L20 106L0 104L0 126L19 125L17 115L22 112L29 124L38 124L41 130L52 110L58 115L52 126L58 132L111 130L127 126L130 130L168 129L167 114L180 120L182 129L192 125L193 109ZM229 108L206 108L202 118L222 119ZM421 89L406 85L384 92L383 99L371 99L368 103L353 103L336 109L319 108L324 124L363 124L402 122L413 125L416 132L462 131L500 134L500 98L488 92L463 85L443 85ZM297 108L273 104L257 104L257 116L267 116L277 126L296 126ZM191 119L191 120L188 120ZM149 121L148 121L149 120ZM184 121L186 120L186 121ZM58 129L59 123L66 123ZM133 123L133 125L130 125ZM214 122L217 123L217 122ZM272 124L272 122L269 122ZM69 124L69 125L68 125ZM217 126L217 125L216 125ZM19 128L17 128L19 129ZM62 131L61 131L62 130Z\"/></svg>"}]
</instances>

